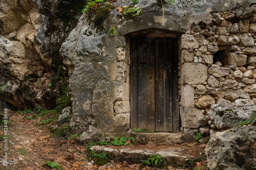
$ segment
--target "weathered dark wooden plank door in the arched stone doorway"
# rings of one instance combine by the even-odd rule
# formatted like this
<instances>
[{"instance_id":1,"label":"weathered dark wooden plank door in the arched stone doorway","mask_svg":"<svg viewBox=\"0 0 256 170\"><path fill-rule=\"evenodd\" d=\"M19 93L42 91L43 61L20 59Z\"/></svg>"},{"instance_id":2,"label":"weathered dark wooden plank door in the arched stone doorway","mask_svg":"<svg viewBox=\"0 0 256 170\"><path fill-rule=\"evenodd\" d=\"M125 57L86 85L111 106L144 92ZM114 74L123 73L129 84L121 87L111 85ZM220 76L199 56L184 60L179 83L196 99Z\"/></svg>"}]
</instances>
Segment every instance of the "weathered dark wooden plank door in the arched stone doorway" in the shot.
<instances>
[{"instance_id":1,"label":"weathered dark wooden plank door in the arched stone doorway","mask_svg":"<svg viewBox=\"0 0 256 170\"><path fill-rule=\"evenodd\" d=\"M131 41L131 129L179 128L177 41Z\"/></svg>"}]
</instances>

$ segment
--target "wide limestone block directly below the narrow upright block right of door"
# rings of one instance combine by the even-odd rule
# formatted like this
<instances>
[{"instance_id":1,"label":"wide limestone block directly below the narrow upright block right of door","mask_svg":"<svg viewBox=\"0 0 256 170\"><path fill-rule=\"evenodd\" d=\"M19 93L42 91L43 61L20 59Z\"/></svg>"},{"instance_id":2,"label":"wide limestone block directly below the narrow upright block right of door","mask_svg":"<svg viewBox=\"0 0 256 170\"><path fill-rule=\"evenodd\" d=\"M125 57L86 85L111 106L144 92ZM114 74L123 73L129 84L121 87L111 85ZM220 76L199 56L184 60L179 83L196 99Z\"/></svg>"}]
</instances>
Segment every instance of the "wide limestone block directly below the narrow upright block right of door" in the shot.
<instances>
[{"instance_id":1,"label":"wide limestone block directly below the narrow upright block right of door","mask_svg":"<svg viewBox=\"0 0 256 170\"><path fill-rule=\"evenodd\" d=\"M205 115L197 108L182 107L180 109L180 118L182 127L184 128L198 128L208 123Z\"/></svg>"}]
</instances>

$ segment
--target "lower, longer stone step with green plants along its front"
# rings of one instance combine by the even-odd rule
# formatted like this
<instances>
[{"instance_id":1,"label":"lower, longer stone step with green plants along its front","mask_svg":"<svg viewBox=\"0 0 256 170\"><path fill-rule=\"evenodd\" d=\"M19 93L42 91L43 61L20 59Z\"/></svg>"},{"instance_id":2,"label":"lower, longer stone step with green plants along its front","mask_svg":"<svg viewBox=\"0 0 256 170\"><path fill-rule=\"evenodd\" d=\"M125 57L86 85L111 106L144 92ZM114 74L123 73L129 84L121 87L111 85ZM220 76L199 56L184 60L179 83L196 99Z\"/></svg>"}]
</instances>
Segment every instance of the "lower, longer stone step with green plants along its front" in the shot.
<instances>
[{"instance_id":1,"label":"lower, longer stone step with green plants along its front","mask_svg":"<svg viewBox=\"0 0 256 170\"><path fill-rule=\"evenodd\" d=\"M192 159L194 162L206 160L206 157L191 156L191 154L185 152L185 149L174 147L169 147L159 151L151 149L134 150L130 148L117 150L104 146L93 146L90 149L92 151L107 152L108 157L116 162L126 161L131 164L141 163L140 160L147 160L150 155L158 154L162 155L162 159L166 161L167 165L171 165L173 167L184 166L187 164L188 159Z\"/></svg>"}]
</instances>

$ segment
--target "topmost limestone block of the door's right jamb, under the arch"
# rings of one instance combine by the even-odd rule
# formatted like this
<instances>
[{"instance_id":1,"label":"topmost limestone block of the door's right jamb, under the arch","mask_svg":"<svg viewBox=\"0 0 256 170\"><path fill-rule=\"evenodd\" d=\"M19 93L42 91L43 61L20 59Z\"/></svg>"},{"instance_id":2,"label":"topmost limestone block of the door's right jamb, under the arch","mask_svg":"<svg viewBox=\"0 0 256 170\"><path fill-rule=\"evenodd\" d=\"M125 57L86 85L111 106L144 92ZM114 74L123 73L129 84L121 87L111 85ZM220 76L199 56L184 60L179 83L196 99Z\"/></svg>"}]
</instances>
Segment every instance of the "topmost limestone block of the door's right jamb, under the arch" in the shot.
<instances>
[{"instance_id":1,"label":"topmost limestone block of the door's right jamb, under the arch","mask_svg":"<svg viewBox=\"0 0 256 170\"><path fill-rule=\"evenodd\" d=\"M180 49L196 49L199 48L199 43L197 42L194 35L182 34L180 39Z\"/></svg>"}]
</instances>

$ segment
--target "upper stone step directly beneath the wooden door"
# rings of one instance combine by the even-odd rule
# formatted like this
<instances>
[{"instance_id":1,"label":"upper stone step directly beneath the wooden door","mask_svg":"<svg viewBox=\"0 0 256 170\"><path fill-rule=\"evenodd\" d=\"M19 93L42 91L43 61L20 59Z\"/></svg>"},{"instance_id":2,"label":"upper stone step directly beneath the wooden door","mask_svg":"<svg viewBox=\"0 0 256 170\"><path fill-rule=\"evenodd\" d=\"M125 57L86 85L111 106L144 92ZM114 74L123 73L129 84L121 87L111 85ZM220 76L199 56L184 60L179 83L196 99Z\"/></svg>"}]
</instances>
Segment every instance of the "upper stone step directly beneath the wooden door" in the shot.
<instances>
[{"instance_id":1,"label":"upper stone step directly beneath the wooden door","mask_svg":"<svg viewBox=\"0 0 256 170\"><path fill-rule=\"evenodd\" d=\"M131 136L136 139L136 143L141 145L180 145L184 143L184 134L182 132L154 132L154 133L136 133Z\"/></svg>"}]
</instances>

